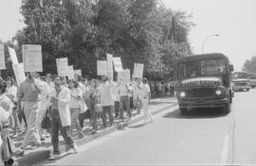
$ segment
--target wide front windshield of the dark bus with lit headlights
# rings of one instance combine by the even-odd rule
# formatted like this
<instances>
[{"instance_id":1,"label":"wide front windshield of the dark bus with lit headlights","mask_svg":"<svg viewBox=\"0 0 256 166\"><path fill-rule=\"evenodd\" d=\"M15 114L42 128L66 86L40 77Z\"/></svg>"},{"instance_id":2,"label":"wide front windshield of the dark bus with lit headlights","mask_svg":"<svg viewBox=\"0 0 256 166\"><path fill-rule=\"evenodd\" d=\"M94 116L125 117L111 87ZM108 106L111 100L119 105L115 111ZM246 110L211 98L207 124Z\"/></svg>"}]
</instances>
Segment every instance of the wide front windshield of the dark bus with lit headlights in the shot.
<instances>
[{"instance_id":1,"label":"wide front windshield of the dark bus with lit headlights","mask_svg":"<svg viewBox=\"0 0 256 166\"><path fill-rule=\"evenodd\" d=\"M227 67L225 59L190 61L179 64L179 74L181 77L226 75Z\"/></svg>"}]
</instances>

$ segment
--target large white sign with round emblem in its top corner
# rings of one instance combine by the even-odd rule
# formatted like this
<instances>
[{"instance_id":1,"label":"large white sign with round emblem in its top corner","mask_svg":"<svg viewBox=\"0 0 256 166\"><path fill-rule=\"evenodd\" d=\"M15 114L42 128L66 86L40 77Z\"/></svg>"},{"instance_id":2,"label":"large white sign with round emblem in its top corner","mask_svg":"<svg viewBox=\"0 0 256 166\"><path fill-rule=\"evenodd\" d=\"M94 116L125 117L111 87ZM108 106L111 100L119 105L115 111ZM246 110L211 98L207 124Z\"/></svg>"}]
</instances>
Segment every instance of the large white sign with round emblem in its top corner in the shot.
<instances>
[{"instance_id":1,"label":"large white sign with round emblem in its top corner","mask_svg":"<svg viewBox=\"0 0 256 166\"><path fill-rule=\"evenodd\" d=\"M22 45L25 72L43 72L41 45Z\"/></svg>"}]
</instances>

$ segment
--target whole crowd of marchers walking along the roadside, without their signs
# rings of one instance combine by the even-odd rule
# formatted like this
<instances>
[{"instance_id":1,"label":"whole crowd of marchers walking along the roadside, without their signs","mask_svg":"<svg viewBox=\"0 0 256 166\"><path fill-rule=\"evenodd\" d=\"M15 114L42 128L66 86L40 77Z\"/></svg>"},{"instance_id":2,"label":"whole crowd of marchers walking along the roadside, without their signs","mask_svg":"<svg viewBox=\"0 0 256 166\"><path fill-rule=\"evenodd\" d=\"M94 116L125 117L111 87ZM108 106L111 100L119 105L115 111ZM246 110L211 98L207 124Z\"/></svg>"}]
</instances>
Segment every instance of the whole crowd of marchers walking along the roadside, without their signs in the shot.
<instances>
[{"instance_id":1,"label":"whole crowd of marchers walking along the roadside, without their signs","mask_svg":"<svg viewBox=\"0 0 256 166\"><path fill-rule=\"evenodd\" d=\"M59 158L59 133L69 145L69 152L78 153L75 139L82 139L83 121L90 119L89 127L97 132L110 127L114 119L130 121L133 113L144 111L144 123L152 123L149 111L151 98L147 78L133 78L122 84L107 76L99 79L72 79L59 75L27 73L24 82L16 85L12 77L0 78L0 164L12 165L14 152L12 139L24 132L25 138L17 154L41 146L50 137L53 151L49 159ZM28 144L32 146L28 147ZM1 154L2 153L2 154Z\"/></svg>"}]
</instances>

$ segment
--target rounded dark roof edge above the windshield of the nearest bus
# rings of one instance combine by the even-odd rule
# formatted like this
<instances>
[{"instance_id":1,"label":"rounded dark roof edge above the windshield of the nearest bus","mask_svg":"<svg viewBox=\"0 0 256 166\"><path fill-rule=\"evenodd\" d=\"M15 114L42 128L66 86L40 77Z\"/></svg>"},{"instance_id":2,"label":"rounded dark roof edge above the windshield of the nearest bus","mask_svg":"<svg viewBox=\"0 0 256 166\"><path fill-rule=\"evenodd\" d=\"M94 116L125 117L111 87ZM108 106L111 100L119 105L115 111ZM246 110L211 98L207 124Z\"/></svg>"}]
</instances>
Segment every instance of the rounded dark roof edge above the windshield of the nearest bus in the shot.
<instances>
[{"instance_id":1,"label":"rounded dark roof edge above the windshield of the nearest bus","mask_svg":"<svg viewBox=\"0 0 256 166\"><path fill-rule=\"evenodd\" d=\"M207 59L212 59L212 58L227 58L227 57L220 53L199 54L199 55L192 55L192 56L189 56L186 58L180 58L178 60L178 62L207 60Z\"/></svg>"}]
</instances>

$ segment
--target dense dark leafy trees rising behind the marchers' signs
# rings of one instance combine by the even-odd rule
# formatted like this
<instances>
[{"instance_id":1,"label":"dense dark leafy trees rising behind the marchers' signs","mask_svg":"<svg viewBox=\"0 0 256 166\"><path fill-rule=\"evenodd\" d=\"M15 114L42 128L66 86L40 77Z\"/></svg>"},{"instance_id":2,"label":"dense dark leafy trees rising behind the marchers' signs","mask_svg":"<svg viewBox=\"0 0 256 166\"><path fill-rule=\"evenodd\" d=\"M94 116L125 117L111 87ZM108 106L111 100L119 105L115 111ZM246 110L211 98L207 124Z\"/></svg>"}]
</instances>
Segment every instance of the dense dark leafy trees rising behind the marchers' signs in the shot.
<instances>
[{"instance_id":1,"label":"dense dark leafy trees rising behind the marchers' signs","mask_svg":"<svg viewBox=\"0 0 256 166\"><path fill-rule=\"evenodd\" d=\"M23 0L27 25L13 40L41 44L44 72L56 72L55 58L68 58L83 75L97 75L97 59L121 57L124 68L144 63L144 74L170 76L174 60L188 56L192 15L159 0ZM167 76L167 77L168 77Z\"/></svg>"}]
</instances>

